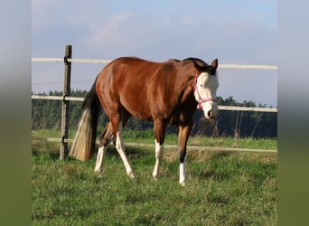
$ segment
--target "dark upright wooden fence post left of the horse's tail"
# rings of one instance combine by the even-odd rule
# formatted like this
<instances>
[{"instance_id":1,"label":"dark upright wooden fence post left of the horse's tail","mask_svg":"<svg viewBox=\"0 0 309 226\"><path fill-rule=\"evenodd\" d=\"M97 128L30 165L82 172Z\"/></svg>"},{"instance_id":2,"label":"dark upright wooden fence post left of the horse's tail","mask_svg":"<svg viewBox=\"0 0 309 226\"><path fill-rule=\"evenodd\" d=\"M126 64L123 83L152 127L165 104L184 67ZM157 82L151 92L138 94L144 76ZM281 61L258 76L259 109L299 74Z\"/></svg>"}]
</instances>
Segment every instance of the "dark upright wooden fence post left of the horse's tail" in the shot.
<instances>
[{"instance_id":1,"label":"dark upright wooden fence post left of the horse's tail","mask_svg":"<svg viewBox=\"0 0 309 226\"><path fill-rule=\"evenodd\" d=\"M68 155L68 143L64 139L68 138L69 132L69 100L65 97L70 96L70 68L71 62L68 61L72 57L72 46L65 46L64 55L64 81L63 81L63 94L62 94L62 111L61 111L61 151L60 159L64 159Z\"/></svg>"}]
</instances>

